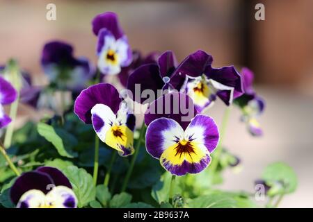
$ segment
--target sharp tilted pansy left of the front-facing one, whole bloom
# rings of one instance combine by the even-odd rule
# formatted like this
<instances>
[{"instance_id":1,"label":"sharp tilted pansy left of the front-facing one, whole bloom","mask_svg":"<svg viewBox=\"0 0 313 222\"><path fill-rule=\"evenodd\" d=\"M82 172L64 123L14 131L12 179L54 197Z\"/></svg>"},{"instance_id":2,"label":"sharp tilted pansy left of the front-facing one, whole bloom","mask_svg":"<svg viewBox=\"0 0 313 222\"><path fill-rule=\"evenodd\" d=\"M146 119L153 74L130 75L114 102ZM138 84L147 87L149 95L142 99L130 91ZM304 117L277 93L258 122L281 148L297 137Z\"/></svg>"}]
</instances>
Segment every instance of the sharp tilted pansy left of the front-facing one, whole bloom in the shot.
<instances>
[{"instance_id":1,"label":"sharp tilted pansy left of the front-facing one, whole bloom","mask_svg":"<svg viewBox=\"0 0 313 222\"><path fill-rule=\"evenodd\" d=\"M118 90L109 83L84 89L77 97L74 112L84 123L92 123L99 139L121 156L134 153L136 118L123 105Z\"/></svg>"}]
</instances>

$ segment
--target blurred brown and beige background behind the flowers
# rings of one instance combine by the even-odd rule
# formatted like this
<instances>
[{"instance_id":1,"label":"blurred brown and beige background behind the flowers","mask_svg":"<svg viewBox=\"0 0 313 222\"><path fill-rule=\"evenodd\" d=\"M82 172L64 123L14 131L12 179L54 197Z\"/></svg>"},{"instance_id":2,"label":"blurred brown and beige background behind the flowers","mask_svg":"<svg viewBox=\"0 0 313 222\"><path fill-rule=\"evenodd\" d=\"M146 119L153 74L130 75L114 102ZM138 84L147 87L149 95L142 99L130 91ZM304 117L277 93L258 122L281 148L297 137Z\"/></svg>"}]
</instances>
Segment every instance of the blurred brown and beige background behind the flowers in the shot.
<instances>
[{"instance_id":1,"label":"blurred brown and beige background behind the flowers","mask_svg":"<svg viewBox=\"0 0 313 222\"><path fill-rule=\"evenodd\" d=\"M46 19L48 3L56 4L56 21ZM264 3L265 21L255 20L257 3ZM35 84L42 85L40 55L50 40L65 40L74 45L76 56L95 62L90 22L101 12L114 11L133 49L171 49L179 61L202 49L214 57L214 67L250 67L257 92L266 99L259 119L264 137L251 137L239 121L239 110L232 108L225 146L241 157L243 169L225 172L222 188L254 191L262 169L281 160L295 169L299 184L280 206L313 207L312 8L311 0L0 0L0 64L17 58ZM218 103L207 112L220 123L224 108ZM19 117L25 121L37 114L21 106Z\"/></svg>"}]
</instances>

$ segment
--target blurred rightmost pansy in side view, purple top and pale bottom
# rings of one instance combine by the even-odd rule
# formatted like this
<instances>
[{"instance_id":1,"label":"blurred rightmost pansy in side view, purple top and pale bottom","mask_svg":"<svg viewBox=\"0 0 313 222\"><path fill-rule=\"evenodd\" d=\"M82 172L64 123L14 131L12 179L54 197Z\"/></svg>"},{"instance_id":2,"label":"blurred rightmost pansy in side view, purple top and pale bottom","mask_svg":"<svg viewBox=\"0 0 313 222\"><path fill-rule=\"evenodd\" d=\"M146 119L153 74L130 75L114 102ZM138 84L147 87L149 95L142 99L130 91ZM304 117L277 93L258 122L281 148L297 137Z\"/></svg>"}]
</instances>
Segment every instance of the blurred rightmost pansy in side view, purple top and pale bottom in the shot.
<instances>
[{"instance_id":1,"label":"blurred rightmost pansy in side view, purple top and pale bottom","mask_svg":"<svg viewBox=\"0 0 313 222\"><path fill-rule=\"evenodd\" d=\"M246 123L248 131L253 136L263 134L262 128L257 121L257 117L264 112L265 102L257 96L257 93L252 87L254 74L246 67L241 70L243 78L243 89L245 93L236 99L234 102L241 108L241 120Z\"/></svg>"}]
</instances>

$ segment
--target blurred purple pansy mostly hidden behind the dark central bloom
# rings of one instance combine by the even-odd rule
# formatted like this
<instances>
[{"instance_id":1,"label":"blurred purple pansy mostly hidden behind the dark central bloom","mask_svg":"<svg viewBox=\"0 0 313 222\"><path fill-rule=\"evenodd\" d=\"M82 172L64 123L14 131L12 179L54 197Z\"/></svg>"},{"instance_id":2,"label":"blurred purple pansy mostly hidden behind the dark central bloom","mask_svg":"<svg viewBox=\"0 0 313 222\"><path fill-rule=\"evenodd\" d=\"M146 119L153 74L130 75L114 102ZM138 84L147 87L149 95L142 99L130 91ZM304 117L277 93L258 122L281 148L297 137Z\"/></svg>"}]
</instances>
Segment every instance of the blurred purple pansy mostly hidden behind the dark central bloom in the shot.
<instances>
[{"instance_id":1,"label":"blurred purple pansy mostly hidden behind the dark central bloom","mask_svg":"<svg viewBox=\"0 0 313 222\"><path fill-rule=\"evenodd\" d=\"M158 57L159 53L157 52L149 53L145 58L143 58L139 51L133 51L133 60L131 64L128 67L122 67L120 74L118 74L118 78L120 79L122 86L127 87L128 78L135 69L145 64L157 64Z\"/></svg>"}]
</instances>

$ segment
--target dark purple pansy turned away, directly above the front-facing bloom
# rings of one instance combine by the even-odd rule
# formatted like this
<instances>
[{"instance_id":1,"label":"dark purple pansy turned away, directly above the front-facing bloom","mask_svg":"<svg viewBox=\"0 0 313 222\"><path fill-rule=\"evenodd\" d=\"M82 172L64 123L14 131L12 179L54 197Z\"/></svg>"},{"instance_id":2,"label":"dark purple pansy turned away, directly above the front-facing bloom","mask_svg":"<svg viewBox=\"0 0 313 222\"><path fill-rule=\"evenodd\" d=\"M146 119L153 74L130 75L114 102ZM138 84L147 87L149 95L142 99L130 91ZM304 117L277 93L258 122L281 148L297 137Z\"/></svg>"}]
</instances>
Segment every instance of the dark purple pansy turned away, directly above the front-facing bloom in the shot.
<instances>
[{"instance_id":1,"label":"dark purple pansy turned away, directly above the front-facing bloom","mask_svg":"<svg viewBox=\"0 0 313 222\"><path fill-rule=\"evenodd\" d=\"M131 99L138 103L151 103L157 99L156 96L161 96L159 91L164 89L176 66L174 53L166 51L159 56L157 63L141 65L135 69L127 83L127 89L132 94L129 95ZM148 91L150 98L143 96Z\"/></svg>"}]
</instances>

